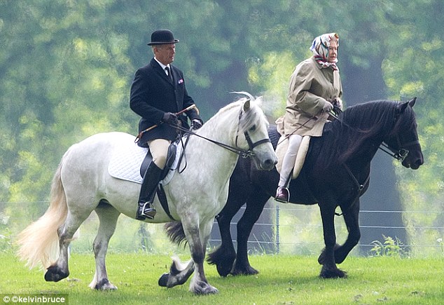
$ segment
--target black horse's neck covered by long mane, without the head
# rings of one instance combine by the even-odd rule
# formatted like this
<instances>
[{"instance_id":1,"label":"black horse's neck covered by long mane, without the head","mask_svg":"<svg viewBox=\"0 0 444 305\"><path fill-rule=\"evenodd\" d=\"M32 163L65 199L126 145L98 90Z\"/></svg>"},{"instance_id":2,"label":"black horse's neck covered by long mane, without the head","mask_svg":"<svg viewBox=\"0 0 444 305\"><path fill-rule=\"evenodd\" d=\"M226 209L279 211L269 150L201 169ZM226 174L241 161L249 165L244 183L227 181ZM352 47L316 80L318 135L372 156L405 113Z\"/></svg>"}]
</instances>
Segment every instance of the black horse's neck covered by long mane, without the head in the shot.
<instances>
[{"instance_id":1,"label":"black horse's neck covered by long mane, without the head","mask_svg":"<svg viewBox=\"0 0 444 305\"><path fill-rule=\"evenodd\" d=\"M327 123L324 128L324 168L332 163L344 163L354 156L361 144L375 135L389 135L393 127L398 102L377 100L347 108L339 120ZM382 130L387 131L382 133Z\"/></svg>"}]
</instances>

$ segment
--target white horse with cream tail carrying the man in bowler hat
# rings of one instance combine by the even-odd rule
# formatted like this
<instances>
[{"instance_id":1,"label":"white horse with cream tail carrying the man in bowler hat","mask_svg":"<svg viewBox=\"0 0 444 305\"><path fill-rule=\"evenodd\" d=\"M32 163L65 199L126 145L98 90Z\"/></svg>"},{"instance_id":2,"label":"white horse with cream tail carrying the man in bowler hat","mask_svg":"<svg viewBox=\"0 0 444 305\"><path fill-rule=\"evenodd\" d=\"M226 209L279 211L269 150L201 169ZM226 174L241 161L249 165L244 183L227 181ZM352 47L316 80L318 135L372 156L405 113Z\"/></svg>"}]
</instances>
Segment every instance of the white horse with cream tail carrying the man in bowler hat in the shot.
<instances>
[{"instance_id":1,"label":"white horse with cream tail carrying the man in bowler hat","mask_svg":"<svg viewBox=\"0 0 444 305\"><path fill-rule=\"evenodd\" d=\"M190 283L191 292L218 292L207 282L203 263L214 217L227 201L228 182L237 158L243 151L244 156L252 156L263 170L271 170L277 163L268 139L268 121L251 100L253 97L248 93L244 95L249 98L223 107L197 130L198 136L190 136L186 170L176 172L165 186L169 211L183 225L192 259L186 269L174 260L171 272L167 278L162 276L159 285L181 285L196 271ZM122 145L134 145L134 137L125 133L100 133L71 146L55 172L48 210L20 233L20 258L27 260L30 268L41 262L47 269L47 281L57 282L69 276L69 243L78 227L95 210L99 230L93 244L96 269L90 287L117 289L106 273L106 250L119 215L135 219L140 191L140 184L109 175L113 151ZM157 197L154 205L158 213L155 219L146 219L146 222L170 222Z\"/></svg>"}]
</instances>

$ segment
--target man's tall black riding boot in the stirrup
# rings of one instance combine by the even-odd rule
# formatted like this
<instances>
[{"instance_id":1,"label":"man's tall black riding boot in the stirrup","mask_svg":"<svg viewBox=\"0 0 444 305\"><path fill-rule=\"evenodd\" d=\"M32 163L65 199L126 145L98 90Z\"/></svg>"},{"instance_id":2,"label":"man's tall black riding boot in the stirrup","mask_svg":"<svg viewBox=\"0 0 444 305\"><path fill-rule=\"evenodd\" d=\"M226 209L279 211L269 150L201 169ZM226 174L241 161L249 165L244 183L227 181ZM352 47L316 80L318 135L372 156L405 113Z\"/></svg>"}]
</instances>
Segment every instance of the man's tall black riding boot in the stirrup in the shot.
<instances>
[{"instance_id":1,"label":"man's tall black riding boot in the stirrup","mask_svg":"<svg viewBox=\"0 0 444 305\"><path fill-rule=\"evenodd\" d=\"M155 165L155 163L151 161L146 169L144 181L142 182L140 189L139 206L136 215L137 220L154 218L155 208L152 203L154 200L155 189L157 189L160 181L160 175L162 175L162 170L158 168L158 165Z\"/></svg>"}]
</instances>

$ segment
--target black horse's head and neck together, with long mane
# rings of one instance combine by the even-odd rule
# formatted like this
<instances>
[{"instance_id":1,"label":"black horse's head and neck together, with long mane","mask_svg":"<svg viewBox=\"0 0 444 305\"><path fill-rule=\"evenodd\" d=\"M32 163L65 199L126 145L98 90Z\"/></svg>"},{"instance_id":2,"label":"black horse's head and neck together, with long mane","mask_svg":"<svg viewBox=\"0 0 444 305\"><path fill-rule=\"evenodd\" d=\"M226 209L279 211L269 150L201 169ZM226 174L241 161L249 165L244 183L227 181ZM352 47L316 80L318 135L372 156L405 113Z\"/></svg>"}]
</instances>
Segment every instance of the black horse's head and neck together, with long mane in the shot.
<instances>
[{"instance_id":1,"label":"black horse's head and neck together, with long mane","mask_svg":"<svg viewBox=\"0 0 444 305\"><path fill-rule=\"evenodd\" d=\"M377 100L348 107L338 120L324 127L323 149L328 153L319 161L320 167L373 158L382 142L403 166L419 168L424 157L412 109L415 101L416 98L409 102Z\"/></svg>"}]
</instances>

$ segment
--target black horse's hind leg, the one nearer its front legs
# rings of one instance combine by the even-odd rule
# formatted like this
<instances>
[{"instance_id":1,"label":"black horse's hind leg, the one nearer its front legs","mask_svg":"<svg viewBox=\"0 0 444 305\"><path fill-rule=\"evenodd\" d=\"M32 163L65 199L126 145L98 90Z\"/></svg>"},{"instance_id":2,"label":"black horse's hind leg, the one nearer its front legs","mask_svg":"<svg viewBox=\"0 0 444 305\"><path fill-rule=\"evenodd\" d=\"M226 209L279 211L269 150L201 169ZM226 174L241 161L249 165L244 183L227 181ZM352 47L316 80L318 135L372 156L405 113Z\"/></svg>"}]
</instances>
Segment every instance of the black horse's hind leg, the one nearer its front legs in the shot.
<instances>
[{"instance_id":1,"label":"black horse's hind leg, the one nearer its front legs","mask_svg":"<svg viewBox=\"0 0 444 305\"><path fill-rule=\"evenodd\" d=\"M248 238L251 229L253 229L254 224L261 216L263 207L270 196L264 194L262 191L256 191L257 193L252 193L247 200L247 208L245 209L242 218L237 222L237 257L233 270L231 271L233 276L259 273L256 269L251 267L248 259Z\"/></svg>"}]
</instances>

